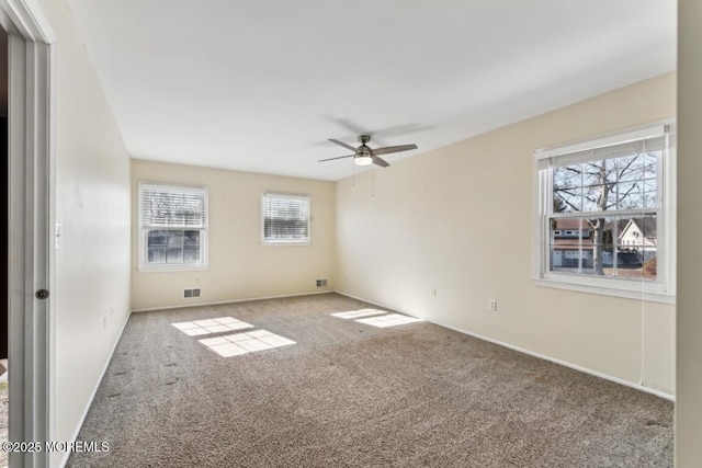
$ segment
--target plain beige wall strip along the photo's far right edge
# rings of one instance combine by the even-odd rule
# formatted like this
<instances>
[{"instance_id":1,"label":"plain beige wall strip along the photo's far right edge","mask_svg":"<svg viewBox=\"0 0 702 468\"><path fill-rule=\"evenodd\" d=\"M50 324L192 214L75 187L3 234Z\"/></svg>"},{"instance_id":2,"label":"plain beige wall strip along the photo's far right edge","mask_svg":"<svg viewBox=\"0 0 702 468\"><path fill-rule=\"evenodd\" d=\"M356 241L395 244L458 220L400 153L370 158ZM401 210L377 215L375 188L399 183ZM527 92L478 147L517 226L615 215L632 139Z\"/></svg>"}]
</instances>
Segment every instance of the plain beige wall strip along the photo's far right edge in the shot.
<instances>
[{"instance_id":1,"label":"plain beige wall strip along the photo's far right edge","mask_svg":"<svg viewBox=\"0 0 702 468\"><path fill-rule=\"evenodd\" d=\"M676 467L702 460L702 3L680 0L678 30L678 393Z\"/></svg>"}]
</instances>

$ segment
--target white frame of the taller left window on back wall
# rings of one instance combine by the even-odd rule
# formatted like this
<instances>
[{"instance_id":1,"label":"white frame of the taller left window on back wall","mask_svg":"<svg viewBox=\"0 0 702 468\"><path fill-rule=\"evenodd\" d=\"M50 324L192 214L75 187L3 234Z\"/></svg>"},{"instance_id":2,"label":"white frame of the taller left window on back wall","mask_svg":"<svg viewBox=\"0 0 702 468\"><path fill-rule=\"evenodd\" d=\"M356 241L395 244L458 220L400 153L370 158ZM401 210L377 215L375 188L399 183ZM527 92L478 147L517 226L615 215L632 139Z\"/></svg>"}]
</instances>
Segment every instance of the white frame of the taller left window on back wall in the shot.
<instances>
[{"instance_id":1,"label":"white frame of the taller left window on back wall","mask_svg":"<svg viewBox=\"0 0 702 468\"><path fill-rule=\"evenodd\" d=\"M191 227L191 226L172 226L172 227L147 227L144 226L144 214L141 210L141 204L144 201L144 191L148 189L162 189L176 192L194 192L204 194L205 198L205 222L204 226ZM138 267L139 272L183 272L183 271L197 271L208 269L208 231L210 231L210 193L206 186L194 185L181 185L181 184L166 184L159 182L145 182L138 183ZM200 231L200 261L199 262L184 262L184 263L148 263L148 232L149 230L199 230Z\"/></svg>"}]
</instances>

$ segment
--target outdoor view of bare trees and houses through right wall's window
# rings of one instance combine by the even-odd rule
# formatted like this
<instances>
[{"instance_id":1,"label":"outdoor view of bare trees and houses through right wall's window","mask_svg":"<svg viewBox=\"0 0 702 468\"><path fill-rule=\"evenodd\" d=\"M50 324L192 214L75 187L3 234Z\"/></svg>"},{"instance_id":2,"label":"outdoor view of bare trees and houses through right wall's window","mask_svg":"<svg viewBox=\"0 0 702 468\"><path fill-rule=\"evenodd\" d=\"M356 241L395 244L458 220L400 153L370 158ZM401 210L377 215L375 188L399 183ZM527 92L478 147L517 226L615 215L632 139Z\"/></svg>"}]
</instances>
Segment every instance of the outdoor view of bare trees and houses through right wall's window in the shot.
<instances>
[{"instance_id":1,"label":"outdoor view of bare trees and houses through right wall's window","mask_svg":"<svg viewBox=\"0 0 702 468\"><path fill-rule=\"evenodd\" d=\"M641 271L625 270L641 267L652 259L655 262L652 249L656 246L656 229L650 229L650 219L655 222L661 150L647 150L642 141L626 145L632 147L630 151L623 151L621 146L616 148L620 155L627 153L623 157L602 158L592 151L590 158L581 155L584 162L553 168L551 226L552 252L556 259L553 266L569 267L570 271L577 266L578 273L600 276L607 275L610 266L613 275L641 276ZM643 239L637 242L636 238L631 241L622 238L624 228L632 221L639 230L645 224L649 235L654 233L653 238L648 237L647 244ZM559 229L563 226L569 226L569 229ZM566 242L568 238L571 239L569 243ZM649 267L648 278L650 271Z\"/></svg>"}]
</instances>

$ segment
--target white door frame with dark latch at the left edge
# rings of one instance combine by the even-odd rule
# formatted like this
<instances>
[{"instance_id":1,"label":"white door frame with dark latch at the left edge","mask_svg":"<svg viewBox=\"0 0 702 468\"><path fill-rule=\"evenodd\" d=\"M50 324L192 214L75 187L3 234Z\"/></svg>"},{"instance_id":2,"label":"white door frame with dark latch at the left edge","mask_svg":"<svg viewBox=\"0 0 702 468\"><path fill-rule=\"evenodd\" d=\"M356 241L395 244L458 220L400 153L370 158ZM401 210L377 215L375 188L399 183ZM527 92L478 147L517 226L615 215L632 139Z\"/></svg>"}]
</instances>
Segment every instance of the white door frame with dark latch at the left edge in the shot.
<instances>
[{"instance_id":1,"label":"white door frame with dark latch at the left edge","mask_svg":"<svg viewBox=\"0 0 702 468\"><path fill-rule=\"evenodd\" d=\"M0 0L8 32L9 372L13 442L53 434L55 284L54 33L33 0ZM42 447L44 448L44 447ZM10 467L49 466L49 454L11 453Z\"/></svg>"}]
</instances>

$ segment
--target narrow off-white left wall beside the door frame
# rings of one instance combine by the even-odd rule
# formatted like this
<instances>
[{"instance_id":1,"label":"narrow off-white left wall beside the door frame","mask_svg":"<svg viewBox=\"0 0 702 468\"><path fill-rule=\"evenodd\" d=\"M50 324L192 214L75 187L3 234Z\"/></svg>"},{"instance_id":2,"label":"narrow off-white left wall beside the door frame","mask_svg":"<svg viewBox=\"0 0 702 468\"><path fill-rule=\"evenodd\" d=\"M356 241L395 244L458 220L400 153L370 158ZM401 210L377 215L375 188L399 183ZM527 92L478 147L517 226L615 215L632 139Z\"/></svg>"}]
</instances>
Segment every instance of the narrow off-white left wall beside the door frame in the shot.
<instances>
[{"instance_id":1,"label":"narrow off-white left wall beside the door frame","mask_svg":"<svg viewBox=\"0 0 702 468\"><path fill-rule=\"evenodd\" d=\"M43 1L56 44L56 251L52 436L71 441L129 313L129 157L64 1ZM68 454L53 453L53 466Z\"/></svg>"}]
</instances>

